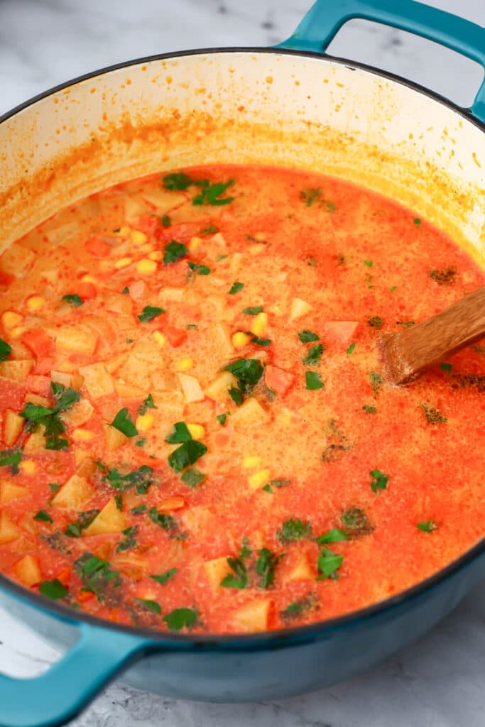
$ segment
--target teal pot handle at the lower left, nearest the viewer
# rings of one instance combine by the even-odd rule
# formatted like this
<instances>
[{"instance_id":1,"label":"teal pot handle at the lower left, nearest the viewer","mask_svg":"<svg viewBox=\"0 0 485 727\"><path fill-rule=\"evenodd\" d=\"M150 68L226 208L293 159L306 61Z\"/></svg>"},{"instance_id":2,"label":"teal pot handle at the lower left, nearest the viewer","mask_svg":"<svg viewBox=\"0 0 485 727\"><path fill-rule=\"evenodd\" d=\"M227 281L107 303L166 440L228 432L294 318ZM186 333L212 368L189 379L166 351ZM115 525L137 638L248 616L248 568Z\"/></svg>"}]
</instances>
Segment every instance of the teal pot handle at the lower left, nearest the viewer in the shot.
<instances>
[{"instance_id":1,"label":"teal pot handle at the lower left, nearest the viewer","mask_svg":"<svg viewBox=\"0 0 485 727\"><path fill-rule=\"evenodd\" d=\"M43 674L12 678L0 674L1 727L54 727L75 717L150 640L80 624L81 637Z\"/></svg>"}]
</instances>

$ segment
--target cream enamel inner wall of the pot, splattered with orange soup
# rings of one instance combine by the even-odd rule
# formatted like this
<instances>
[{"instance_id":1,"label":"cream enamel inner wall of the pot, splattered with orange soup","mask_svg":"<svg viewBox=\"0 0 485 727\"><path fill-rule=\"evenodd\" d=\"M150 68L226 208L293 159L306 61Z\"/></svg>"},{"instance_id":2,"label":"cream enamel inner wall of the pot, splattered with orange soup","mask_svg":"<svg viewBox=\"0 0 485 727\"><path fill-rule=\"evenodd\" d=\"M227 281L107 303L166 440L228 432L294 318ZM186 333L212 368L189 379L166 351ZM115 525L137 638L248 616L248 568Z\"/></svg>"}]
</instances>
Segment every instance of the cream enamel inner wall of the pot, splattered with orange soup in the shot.
<instances>
[{"instance_id":1,"label":"cream enamel inner wall of the pot, splattered with orange soup","mask_svg":"<svg viewBox=\"0 0 485 727\"><path fill-rule=\"evenodd\" d=\"M117 182L195 164L334 174L411 207L485 265L485 134L371 71L284 52L194 53L55 92L0 124L0 250Z\"/></svg>"}]
</instances>

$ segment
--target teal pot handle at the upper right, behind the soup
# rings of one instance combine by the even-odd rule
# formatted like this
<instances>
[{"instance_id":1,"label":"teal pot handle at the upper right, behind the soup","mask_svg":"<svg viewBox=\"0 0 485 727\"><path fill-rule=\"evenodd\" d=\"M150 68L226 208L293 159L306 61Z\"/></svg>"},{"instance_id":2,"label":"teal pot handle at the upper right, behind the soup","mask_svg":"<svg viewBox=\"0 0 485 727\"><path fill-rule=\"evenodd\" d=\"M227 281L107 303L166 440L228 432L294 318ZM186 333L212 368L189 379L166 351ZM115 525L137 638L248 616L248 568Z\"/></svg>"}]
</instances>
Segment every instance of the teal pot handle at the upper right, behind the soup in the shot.
<instances>
[{"instance_id":1,"label":"teal pot handle at the upper right, behind the soup","mask_svg":"<svg viewBox=\"0 0 485 727\"><path fill-rule=\"evenodd\" d=\"M278 48L323 53L342 25L357 17L436 41L485 68L485 28L415 0L317 0ZM470 111L485 123L485 79Z\"/></svg>"}]
</instances>

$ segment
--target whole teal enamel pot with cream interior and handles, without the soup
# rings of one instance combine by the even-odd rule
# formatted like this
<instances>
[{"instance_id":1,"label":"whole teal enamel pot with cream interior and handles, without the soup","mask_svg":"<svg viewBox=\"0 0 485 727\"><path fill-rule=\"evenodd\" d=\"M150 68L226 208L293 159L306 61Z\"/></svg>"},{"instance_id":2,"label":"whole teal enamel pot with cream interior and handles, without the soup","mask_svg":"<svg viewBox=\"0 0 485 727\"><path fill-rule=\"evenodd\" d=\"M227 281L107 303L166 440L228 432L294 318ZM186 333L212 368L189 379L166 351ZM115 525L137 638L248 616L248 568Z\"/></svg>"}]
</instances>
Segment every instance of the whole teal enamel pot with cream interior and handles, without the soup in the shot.
<instances>
[{"instance_id":1,"label":"whole teal enamel pot with cream interior and handles, without the soup","mask_svg":"<svg viewBox=\"0 0 485 727\"><path fill-rule=\"evenodd\" d=\"M193 164L335 174L412 207L484 264L485 84L470 109L324 54L347 20L411 31L485 67L485 29L412 0L318 0L272 49L151 57L52 89L0 119L0 252L60 206ZM433 577L332 621L254 635L104 622L0 577L4 607L57 646L39 677L0 675L3 727L60 725L109 680L215 702L278 699L350 677L417 639L485 574L485 540Z\"/></svg>"}]
</instances>

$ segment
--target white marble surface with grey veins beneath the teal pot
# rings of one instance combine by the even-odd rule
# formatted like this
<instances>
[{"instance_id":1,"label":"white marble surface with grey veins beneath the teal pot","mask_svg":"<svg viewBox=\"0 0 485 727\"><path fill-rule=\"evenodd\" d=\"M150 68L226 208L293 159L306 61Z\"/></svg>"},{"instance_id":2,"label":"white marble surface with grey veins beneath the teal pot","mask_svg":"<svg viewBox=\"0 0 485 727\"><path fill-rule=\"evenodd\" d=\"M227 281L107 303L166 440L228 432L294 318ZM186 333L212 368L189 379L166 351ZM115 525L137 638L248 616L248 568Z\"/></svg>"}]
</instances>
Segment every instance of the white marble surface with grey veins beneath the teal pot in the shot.
<instances>
[{"instance_id":1,"label":"white marble surface with grey veins beneath the teal pot","mask_svg":"<svg viewBox=\"0 0 485 727\"><path fill-rule=\"evenodd\" d=\"M338 1L338 0L333 0ZM396 0L398 2L398 0ZM485 24L485 0L433 0ZM270 45L310 0L0 0L0 114L81 73L151 53ZM404 33L356 21L332 44L466 105L478 67ZM284 702L200 704L113 685L73 727L484 727L485 585L442 624L347 683ZM33 675L56 659L0 611L0 671Z\"/></svg>"}]
</instances>

